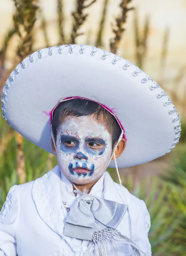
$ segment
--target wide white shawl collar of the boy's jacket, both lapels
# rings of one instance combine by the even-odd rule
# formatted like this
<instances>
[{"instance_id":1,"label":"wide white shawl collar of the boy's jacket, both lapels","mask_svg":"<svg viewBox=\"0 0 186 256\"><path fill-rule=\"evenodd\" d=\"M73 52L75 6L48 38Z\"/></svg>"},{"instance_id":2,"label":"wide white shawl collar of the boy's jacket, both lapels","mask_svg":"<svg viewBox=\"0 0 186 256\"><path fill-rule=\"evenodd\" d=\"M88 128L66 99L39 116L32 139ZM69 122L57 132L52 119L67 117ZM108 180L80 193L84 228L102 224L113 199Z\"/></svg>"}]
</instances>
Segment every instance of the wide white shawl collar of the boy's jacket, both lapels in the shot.
<instances>
[{"instance_id":1,"label":"wide white shawl collar of the boy's jacket, both lapels","mask_svg":"<svg viewBox=\"0 0 186 256\"><path fill-rule=\"evenodd\" d=\"M117 201L120 204L123 204L124 202L122 200L120 186L114 183L108 172L105 172L105 175L102 177L102 179L102 187L104 187L103 198L111 201ZM99 181L101 182L101 180ZM66 184L64 184L64 186L71 186L69 180L66 180L65 183ZM58 165L43 175L43 177L40 177L34 181L31 194L36 205L37 212L39 213L42 220L54 232L62 236L71 246L72 239L63 236L64 215L63 210L61 209L60 169ZM73 241L73 244L76 244L75 241L76 240Z\"/></svg>"}]
</instances>

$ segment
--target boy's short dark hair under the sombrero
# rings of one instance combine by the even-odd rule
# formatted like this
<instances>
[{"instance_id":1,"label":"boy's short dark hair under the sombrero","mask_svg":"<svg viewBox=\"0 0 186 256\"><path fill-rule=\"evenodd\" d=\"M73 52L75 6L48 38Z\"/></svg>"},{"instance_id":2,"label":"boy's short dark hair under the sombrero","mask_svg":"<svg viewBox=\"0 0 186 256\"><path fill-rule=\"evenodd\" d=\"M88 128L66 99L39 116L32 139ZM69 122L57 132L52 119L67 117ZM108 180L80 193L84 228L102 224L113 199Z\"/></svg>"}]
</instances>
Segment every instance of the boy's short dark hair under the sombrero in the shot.
<instances>
[{"instance_id":1,"label":"boy's short dark hair under the sombrero","mask_svg":"<svg viewBox=\"0 0 186 256\"><path fill-rule=\"evenodd\" d=\"M112 134L112 148L114 143L120 137L121 128L116 118L108 111L103 108L99 103L88 100L88 99L70 99L61 102L53 112L52 118L52 133L56 140L57 129L63 122L66 116L90 116L94 115L97 121L103 118L104 125L108 129L109 133Z\"/></svg>"}]
</instances>

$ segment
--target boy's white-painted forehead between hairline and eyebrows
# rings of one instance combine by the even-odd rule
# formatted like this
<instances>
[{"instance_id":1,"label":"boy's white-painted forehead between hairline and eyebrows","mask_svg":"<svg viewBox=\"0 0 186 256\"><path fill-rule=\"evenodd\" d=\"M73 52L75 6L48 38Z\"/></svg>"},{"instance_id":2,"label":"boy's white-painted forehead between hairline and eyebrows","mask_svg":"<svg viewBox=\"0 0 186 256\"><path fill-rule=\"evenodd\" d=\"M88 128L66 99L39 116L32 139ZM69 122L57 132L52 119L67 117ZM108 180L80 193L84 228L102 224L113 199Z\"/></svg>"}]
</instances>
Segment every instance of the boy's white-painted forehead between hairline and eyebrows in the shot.
<instances>
[{"instance_id":1,"label":"boy's white-painted forehead between hairline and eyebrows","mask_svg":"<svg viewBox=\"0 0 186 256\"><path fill-rule=\"evenodd\" d=\"M58 131L66 132L66 130L78 132L78 134L101 134L110 136L103 122L99 122L91 116L67 116L63 119Z\"/></svg>"}]
</instances>

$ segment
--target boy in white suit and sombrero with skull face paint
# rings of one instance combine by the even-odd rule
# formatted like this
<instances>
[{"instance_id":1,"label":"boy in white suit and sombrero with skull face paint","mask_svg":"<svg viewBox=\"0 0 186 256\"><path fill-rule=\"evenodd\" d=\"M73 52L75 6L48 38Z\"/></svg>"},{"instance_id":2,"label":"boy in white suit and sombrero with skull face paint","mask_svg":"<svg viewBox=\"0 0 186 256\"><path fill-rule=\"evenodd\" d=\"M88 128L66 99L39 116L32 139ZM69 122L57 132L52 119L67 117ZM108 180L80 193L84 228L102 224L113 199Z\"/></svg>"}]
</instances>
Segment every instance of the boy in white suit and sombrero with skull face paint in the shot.
<instances>
[{"instance_id":1,"label":"boy in white suit and sombrero with skull face paint","mask_svg":"<svg viewBox=\"0 0 186 256\"><path fill-rule=\"evenodd\" d=\"M151 255L145 203L106 168L114 160L117 169L116 158L134 166L175 147L179 116L159 85L110 52L50 47L11 73L2 111L58 165L11 187L0 213L0 255Z\"/></svg>"}]
</instances>

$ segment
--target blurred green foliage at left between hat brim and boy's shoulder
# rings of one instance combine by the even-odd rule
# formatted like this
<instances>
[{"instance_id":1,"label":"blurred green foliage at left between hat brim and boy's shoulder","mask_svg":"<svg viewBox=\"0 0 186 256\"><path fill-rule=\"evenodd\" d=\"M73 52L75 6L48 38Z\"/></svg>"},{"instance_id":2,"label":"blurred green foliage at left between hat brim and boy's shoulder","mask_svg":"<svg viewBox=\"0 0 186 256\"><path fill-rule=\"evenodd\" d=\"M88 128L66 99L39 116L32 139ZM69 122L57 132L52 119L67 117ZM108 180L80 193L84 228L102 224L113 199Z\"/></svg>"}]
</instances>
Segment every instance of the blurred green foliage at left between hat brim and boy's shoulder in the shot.
<instances>
[{"instance_id":1,"label":"blurred green foliage at left between hat brim and boy's shoulder","mask_svg":"<svg viewBox=\"0 0 186 256\"><path fill-rule=\"evenodd\" d=\"M17 175L17 142L15 131L0 116L0 209L11 186L20 184ZM26 158L26 182L43 176L57 165L56 157L23 138ZM52 166L52 168L51 168Z\"/></svg>"}]
</instances>

